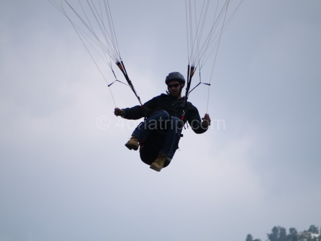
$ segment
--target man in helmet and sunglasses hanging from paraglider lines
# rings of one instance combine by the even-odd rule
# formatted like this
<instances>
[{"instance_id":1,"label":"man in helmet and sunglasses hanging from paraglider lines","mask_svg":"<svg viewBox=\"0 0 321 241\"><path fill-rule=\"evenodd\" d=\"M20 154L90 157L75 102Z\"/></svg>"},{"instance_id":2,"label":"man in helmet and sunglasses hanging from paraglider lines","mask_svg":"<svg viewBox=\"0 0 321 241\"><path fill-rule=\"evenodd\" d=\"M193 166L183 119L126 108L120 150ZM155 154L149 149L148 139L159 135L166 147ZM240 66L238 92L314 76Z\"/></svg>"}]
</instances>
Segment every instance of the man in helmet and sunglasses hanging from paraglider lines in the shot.
<instances>
[{"instance_id":1,"label":"man in helmet and sunglasses hanging from paraglider lines","mask_svg":"<svg viewBox=\"0 0 321 241\"><path fill-rule=\"evenodd\" d=\"M186 102L185 107L183 107L185 98L181 94L185 85L185 78L181 73L169 73L165 83L168 94L156 96L142 106L137 105L125 109L115 108L114 111L116 116L129 120L138 120L145 117L145 120L138 125L130 140L125 144L130 150L138 150L140 144L142 145L145 140L148 140L153 131L165 131L163 141L158 148L158 156L150 165L150 168L158 172L163 168L164 163L170 162L173 158L175 151L178 149L181 130L186 122L197 134L204 133L211 123L208 114L205 114L201 119L198 110L192 103Z\"/></svg>"}]
</instances>

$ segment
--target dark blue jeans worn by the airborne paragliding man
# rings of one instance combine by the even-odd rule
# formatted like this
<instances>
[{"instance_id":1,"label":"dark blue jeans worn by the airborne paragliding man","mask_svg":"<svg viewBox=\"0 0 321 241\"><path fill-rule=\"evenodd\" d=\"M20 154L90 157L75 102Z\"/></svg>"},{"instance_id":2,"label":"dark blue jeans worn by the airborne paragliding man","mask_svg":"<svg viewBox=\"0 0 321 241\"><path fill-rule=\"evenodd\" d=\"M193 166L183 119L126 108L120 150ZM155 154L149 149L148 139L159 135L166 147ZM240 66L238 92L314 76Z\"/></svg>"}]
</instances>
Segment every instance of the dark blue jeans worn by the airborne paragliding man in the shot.
<instances>
[{"instance_id":1,"label":"dark blue jeans worn by the airborne paragliding man","mask_svg":"<svg viewBox=\"0 0 321 241\"><path fill-rule=\"evenodd\" d=\"M150 118L141 123L133 132L139 142L146 140L153 130L167 130L160 152L173 158L178 148L183 121L177 117L170 117L166 111L157 111Z\"/></svg>"}]
</instances>

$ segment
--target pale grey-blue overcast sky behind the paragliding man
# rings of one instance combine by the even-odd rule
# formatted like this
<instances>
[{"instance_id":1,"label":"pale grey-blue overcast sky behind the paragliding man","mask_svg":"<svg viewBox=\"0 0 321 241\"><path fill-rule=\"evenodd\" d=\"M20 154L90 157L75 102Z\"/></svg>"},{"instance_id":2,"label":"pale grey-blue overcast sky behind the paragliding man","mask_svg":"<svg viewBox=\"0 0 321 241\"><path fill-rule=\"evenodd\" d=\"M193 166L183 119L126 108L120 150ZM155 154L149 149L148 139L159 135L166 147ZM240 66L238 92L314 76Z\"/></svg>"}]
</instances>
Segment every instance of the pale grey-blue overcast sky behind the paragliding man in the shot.
<instances>
[{"instance_id":1,"label":"pale grey-blue overcast sky behind the paragliding man","mask_svg":"<svg viewBox=\"0 0 321 241\"><path fill-rule=\"evenodd\" d=\"M143 102L165 93L169 72L186 76L185 1L110 8ZM274 226L320 227L320 11L317 0L244 0L221 38L213 124L201 135L183 130L158 173L124 146L139 121L113 115L68 20L48 1L4 1L0 240L264 241ZM139 104L121 84L112 94L117 107ZM202 116L207 94L203 85L189 98Z\"/></svg>"}]
</instances>

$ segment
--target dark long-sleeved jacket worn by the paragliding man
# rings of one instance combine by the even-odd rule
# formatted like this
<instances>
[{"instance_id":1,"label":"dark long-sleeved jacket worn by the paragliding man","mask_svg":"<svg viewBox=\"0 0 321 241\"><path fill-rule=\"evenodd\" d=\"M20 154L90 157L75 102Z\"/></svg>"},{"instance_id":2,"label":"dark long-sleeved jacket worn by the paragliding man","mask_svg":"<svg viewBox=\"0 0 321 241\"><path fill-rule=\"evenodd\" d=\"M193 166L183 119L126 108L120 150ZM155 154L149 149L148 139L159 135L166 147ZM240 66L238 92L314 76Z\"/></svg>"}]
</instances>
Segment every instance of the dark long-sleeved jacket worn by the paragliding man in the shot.
<instances>
[{"instance_id":1,"label":"dark long-sleeved jacket worn by the paragliding man","mask_svg":"<svg viewBox=\"0 0 321 241\"><path fill-rule=\"evenodd\" d=\"M138 120L142 117L150 117L152 113L163 110L169 113L169 116L181 118L183 113L184 97L180 99L173 99L170 95L161 94L147 101L141 105L136 105L132 108L123 109L125 114L124 118L129 120ZM196 107L187 102L187 110L184 116L184 124L188 121L188 124L192 127L193 131L197 134L204 133L207 128L201 126L202 121Z\"/></svg>"}]
</instances>

